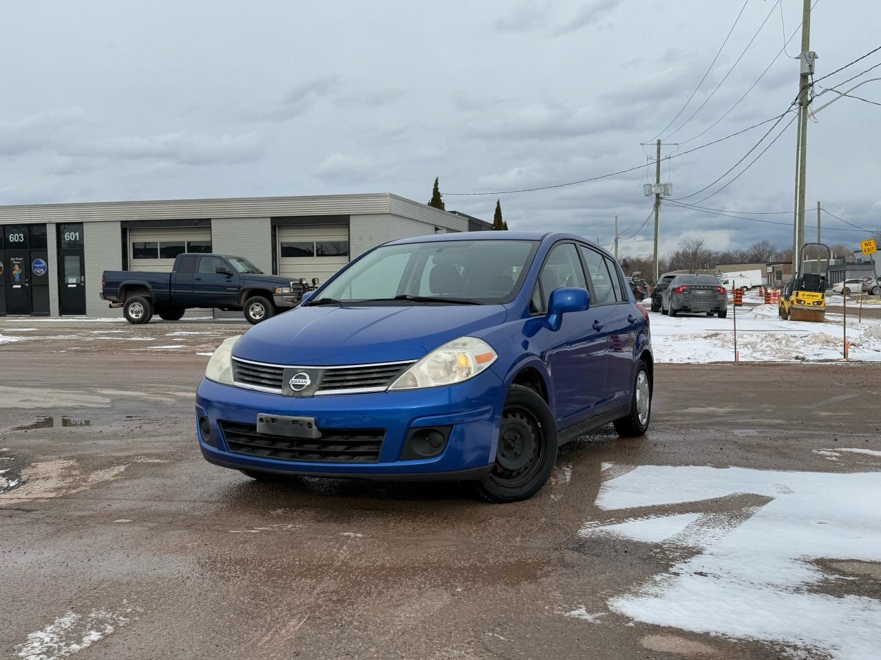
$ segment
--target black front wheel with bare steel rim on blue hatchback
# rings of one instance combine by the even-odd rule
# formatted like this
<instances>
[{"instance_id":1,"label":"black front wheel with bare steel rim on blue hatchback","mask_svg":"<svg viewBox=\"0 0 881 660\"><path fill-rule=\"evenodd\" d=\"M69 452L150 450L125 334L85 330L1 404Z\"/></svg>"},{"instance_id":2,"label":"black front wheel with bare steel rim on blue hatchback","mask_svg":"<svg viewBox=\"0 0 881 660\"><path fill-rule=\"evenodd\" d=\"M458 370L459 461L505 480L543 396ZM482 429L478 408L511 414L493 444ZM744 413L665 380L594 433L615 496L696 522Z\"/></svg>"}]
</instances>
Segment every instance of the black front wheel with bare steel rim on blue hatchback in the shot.
<instances>
[{"instance_id":1,"label":"black front wheel with bare steel rim on blue hatchback","mask_svg":"<svg viewBox=\"0 0 881 660\"><path fill-rule=\"evenodd\" d=\"M476 484L487 502L519 502L535 495L557 460L557 423L537 392L511 385L502 410L492 472Z\"/></svg>"}]
</instances>

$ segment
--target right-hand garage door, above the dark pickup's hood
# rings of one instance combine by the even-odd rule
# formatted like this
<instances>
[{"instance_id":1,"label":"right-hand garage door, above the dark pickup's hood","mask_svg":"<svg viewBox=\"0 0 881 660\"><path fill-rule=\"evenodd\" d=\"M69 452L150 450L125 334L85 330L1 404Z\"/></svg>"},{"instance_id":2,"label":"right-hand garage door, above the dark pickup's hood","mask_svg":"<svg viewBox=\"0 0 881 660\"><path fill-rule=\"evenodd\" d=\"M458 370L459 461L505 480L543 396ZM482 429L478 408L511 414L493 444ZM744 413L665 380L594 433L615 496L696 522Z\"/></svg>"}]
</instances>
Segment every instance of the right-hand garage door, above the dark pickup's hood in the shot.
<instances>
[{"instance_id":1,"label":"right-hand garage door, above the dark pickup's hood","mask_svg":"<svg viewBox=\"0 0 881 660\"><path fill-rule=\"evenodd\" d=\"M348 262L347 224L278 228L278 275L325 282Z\"/></svg>"}]
</instances>

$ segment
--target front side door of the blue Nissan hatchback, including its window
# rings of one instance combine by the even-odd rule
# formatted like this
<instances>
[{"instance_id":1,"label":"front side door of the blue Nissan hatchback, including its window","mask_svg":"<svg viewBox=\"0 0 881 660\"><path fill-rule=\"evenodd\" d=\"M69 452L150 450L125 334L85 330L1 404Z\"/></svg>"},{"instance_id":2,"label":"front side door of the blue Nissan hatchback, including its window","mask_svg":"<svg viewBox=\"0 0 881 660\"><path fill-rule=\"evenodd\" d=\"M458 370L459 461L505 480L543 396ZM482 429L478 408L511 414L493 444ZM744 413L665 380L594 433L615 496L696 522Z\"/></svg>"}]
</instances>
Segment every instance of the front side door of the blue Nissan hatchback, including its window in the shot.
<instances>
[{"instance_id":1,"label":"front side door of the blue Nissan hatchback, including its window","mask_svg":"<svg viewBox=\"0 0 881 660\"><path fill-rule=\"evenodd\" d=\"M547 312L554 290L587 289L574 243L558 243L538 276L541 302ZM606 338L593 308L563 314L559 330L548 332L546 362L553 380L554 417L560 428L574 426L601 412L606 398Z\"/></svg>"}]
</instances>

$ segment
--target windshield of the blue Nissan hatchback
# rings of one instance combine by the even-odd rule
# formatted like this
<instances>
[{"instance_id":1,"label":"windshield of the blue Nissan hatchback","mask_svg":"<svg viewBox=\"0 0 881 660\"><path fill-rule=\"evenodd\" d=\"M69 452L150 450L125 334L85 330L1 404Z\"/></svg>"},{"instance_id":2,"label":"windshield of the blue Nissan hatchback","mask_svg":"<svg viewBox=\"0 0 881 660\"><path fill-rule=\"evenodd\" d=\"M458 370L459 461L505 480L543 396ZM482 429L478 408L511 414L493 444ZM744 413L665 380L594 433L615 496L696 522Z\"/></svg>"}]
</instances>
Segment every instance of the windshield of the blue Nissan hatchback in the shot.
<instances>
[{"instance_id":1,"label":"windshield of the blue Nissan hatchback","mask_svg":"<svg viewBox=\"0 0 881 660\"><path fill-rule=\"evenodd\" d=\"M381 246L328 282L308 305L509 302L537 246L536 241L493 239Z\"/></svg>"}]
</instances>

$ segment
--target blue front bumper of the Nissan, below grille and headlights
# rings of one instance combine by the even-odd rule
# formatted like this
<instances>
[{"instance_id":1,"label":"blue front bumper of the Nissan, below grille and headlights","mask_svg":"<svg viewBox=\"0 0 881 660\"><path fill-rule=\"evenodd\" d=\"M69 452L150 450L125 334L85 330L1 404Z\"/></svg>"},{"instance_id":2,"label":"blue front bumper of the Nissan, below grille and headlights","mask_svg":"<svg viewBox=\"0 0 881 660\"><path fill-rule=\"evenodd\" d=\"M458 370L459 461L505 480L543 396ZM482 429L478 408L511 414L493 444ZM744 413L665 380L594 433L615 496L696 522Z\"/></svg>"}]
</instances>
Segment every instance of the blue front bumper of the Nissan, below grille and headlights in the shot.
<instances>
[{"instance_id":1,"label":"blue front bumper of the Nissan, below grille and headlights","mask_svg":"<svg viewBox=\"0 0 881 660\"><path fill-rule=\"evenodd\" d=\"M489 472L495 457L504 398L492 370L448 387L302 398L203 378L196 391L196 434L204 458L238 470L392 480L478 479ZM314 417L325 434L334 429L383 429L379 457L370 463L305 461L231 451L220 422L251 425L260 414ZM210 442L199 429L202 417L210 425ZM411 429L441 427L449 427L449 436L439 456L401 459Z\"/></svg>"}]
</instances>

